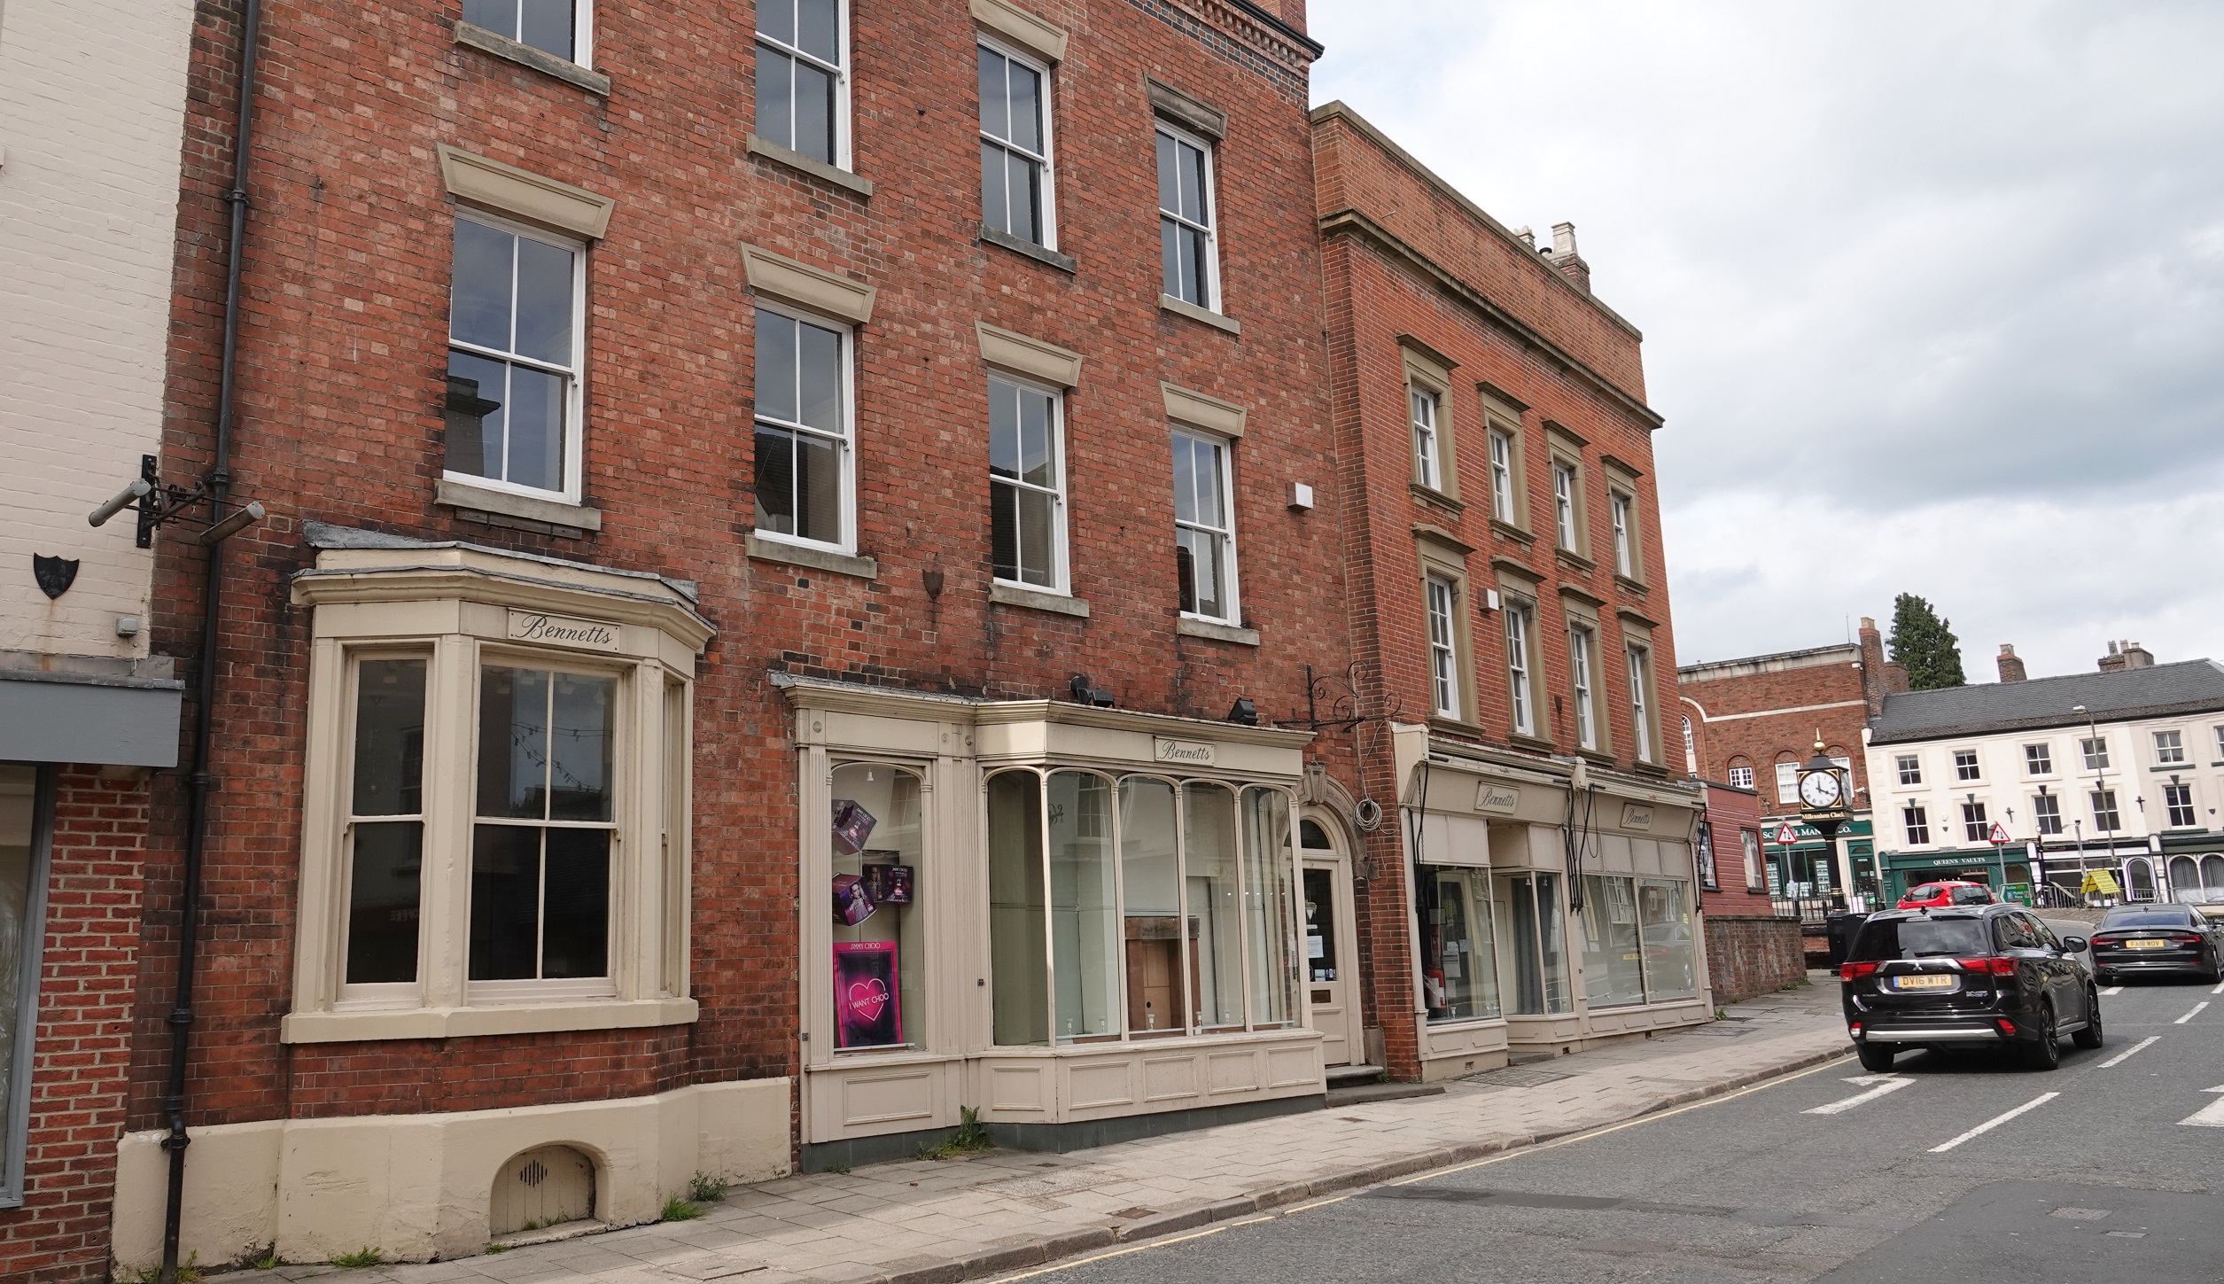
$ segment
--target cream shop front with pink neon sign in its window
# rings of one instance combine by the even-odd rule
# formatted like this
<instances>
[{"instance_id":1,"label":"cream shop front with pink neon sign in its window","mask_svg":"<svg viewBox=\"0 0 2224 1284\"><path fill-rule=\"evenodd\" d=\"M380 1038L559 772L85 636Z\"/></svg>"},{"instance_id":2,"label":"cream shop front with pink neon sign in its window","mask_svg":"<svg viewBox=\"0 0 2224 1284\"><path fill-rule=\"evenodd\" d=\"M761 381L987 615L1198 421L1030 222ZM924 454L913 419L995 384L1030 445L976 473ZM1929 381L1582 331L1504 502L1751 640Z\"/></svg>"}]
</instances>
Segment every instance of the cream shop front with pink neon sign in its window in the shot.
<instances>
[{"instance_id":1,"label":"cream shop front with pink neon sign in its window","mask_svg":"<svg viewBox=\"0 0 2224 1284\"><path fill-rule=\"evenodd\" d=\"M1310 732L772 681L805 1168L910 1155L963 1110L1068 1150L1321 1104L1308 981L1337 990L1343 950L1292 843L1334 868L1301 814Z\"/></svg>"}]
</instances>

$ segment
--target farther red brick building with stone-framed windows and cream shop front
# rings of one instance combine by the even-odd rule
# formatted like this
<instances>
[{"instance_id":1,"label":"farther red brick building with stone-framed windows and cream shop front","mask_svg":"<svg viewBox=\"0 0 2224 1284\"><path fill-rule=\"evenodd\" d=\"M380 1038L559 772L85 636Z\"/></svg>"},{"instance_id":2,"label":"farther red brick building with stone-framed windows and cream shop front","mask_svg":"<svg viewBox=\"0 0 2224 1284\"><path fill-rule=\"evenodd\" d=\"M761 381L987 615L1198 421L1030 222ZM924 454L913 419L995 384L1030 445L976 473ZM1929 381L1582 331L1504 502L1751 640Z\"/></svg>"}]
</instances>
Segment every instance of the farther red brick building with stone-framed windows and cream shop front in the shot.
<instances>
[{"instance_id":1,"label":"farther red brick building with stone-framed windows and cream shop front","mask_svg":"<svg viewBox=\"0 0 2224 1284\"><path fill-rule=\"evenodd\" d=\"M1639 332L1570 225L1539 249L1350 107L1312 120L1386 1064L1704 1021Z\"/></svg>"}]
</instances>

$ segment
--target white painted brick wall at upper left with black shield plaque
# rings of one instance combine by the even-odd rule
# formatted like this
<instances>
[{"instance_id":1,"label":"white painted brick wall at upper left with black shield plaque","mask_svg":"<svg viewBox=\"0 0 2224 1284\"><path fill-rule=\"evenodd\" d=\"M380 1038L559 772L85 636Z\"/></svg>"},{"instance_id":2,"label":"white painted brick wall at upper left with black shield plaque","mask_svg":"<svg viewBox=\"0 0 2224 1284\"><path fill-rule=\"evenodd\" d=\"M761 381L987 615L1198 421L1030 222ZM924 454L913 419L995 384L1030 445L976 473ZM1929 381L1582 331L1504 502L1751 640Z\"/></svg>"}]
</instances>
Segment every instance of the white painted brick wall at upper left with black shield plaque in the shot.
<instances>
[{"instance_id":1,"label":"white painted brick wall at upper left with black shield plaque","mask_svg":"<svg viewBox=\"0 0 2224 1284\"><path fill-rule=\"evenodd\" d=\"M0 650L140 656L153 552L85 514L162 436L191 0L0 0ZM31 554L80 559L47 601Z\"/></svg>"}]
</instances>

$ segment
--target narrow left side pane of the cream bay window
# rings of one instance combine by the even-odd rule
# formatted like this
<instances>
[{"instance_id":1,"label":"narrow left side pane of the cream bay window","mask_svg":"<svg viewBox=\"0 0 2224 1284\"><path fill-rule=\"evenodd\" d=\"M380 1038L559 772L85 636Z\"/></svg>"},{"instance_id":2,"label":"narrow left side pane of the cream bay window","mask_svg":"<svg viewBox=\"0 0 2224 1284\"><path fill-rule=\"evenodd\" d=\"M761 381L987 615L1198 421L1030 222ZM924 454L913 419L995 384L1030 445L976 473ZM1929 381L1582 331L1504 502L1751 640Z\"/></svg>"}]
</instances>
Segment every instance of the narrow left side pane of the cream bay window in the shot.
<instances>
[{"instance_id":1,"label":"narrow left side pane of the cream bay window","mask_svg":"<svg viewBox=\"0 0 2224 1284\"><path fill-rule=\"evenodd\" d=\"M425 659L356 663L351 739L340 984L351 999L407 997L418 979L425 868ZM380 986L400 986L400 992L380 992Z\"/></svg>"}]
</instances>

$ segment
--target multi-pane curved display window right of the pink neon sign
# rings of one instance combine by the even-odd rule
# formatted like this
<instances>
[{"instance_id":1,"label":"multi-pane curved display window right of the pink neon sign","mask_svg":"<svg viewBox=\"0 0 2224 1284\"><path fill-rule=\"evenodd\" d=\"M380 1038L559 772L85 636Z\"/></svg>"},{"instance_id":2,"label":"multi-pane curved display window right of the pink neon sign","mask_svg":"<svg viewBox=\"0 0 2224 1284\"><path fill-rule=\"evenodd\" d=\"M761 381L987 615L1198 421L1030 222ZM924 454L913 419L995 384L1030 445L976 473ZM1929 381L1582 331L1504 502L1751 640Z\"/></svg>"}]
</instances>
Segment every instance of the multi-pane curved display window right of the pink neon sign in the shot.
<instances>
[{"instance_id":1,"label":"multi-pane curved display window right of the pink neon sign","mask_svg":"<svg viewBox=\"0 0 2224 1284\"><path fill-rule=\"evenodd\" d=\"M999 1046L1297 1024L1281 790L996 772L987 863Z\"/></svg>"}]
</instances>

